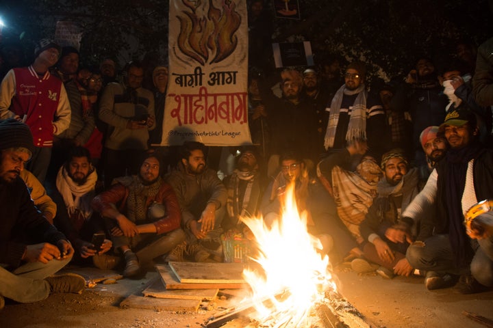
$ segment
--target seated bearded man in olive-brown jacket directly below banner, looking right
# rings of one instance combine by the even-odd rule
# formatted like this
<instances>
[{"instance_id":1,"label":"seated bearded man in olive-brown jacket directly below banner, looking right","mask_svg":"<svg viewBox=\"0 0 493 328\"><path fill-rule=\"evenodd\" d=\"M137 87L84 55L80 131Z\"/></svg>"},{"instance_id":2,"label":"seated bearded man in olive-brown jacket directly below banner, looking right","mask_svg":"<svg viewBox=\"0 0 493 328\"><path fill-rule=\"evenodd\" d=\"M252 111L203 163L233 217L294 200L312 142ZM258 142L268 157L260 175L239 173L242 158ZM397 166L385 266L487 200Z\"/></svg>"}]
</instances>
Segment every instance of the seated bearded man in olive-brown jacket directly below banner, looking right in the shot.
<instances>
[{"instance_id":1,"label":"seated bearded man in olive-brown jacket directly below banner, looking right","mask_svg":"<svg viewBox=\"0 0 493 328\"><path fill-rule=\"evenodd\" d=\"M187 239L168 260L183 260L182 255L186 254L192 260L205 262L219 253L227 191L216 172L205 166L203 143L185 141L179 156L177 168L168 174L167 181L178 197L181 226Z\"/></svg>"}]
</instances>

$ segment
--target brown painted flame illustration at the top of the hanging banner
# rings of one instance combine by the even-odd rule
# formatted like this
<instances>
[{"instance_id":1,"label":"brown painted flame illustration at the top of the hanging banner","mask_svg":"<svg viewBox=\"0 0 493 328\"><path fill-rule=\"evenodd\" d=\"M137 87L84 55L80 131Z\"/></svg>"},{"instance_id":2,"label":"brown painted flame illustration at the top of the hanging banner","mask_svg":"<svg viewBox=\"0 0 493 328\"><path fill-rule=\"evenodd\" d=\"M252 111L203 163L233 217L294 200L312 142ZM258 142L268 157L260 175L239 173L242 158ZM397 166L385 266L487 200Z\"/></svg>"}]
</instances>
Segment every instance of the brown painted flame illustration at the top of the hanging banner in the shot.
<instances>
[{"instance_id":1,"label":"brown painted flame illustration at the top of the hanging banner","mask_svg":"<svg viewBox=\"0 0 493 328\"><path fill-rule=\"evenodd\" d=\"M181 0L190 10L181 10L178 15L180 32L177 45L181 53L204 66L210 57L210 64L227 58L236 49L236 31L241 24L241 16L236 12L236 4L222 0L221 7L214 7L213 0ZM207 8L208 3L208 8Z\"/></svg>"}]
</instances>

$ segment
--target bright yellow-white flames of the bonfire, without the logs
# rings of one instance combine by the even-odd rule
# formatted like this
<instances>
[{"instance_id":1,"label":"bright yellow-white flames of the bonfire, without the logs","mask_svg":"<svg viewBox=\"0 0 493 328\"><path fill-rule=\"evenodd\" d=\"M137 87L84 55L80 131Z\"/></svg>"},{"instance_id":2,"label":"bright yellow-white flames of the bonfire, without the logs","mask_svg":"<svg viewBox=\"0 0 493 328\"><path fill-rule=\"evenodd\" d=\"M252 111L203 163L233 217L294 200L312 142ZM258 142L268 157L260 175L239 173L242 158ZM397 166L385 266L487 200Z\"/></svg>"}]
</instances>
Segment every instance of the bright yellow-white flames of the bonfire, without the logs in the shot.
<instances>
[{"instance_id":1,"label":"bright yellow-white flames of the bonfire, without the logs","mask_svg":"<svg viewBox=\"0 0 493 328\"><path fill-rule=\"evenodd\" d=\"M307 218L301 215L294 201L294 190L289 187L279 221L267 227L262 218L245 218L259 249L253 257L263 269L258 273L246 269L244 279L253 290L252 299L257 310L255 319L264 323L275 320L273 327L309 326L305 321L327 290L336 291L318 238L308 234ZM269 300L269 301L266 301Z\"/></svg>"}]
</instances>

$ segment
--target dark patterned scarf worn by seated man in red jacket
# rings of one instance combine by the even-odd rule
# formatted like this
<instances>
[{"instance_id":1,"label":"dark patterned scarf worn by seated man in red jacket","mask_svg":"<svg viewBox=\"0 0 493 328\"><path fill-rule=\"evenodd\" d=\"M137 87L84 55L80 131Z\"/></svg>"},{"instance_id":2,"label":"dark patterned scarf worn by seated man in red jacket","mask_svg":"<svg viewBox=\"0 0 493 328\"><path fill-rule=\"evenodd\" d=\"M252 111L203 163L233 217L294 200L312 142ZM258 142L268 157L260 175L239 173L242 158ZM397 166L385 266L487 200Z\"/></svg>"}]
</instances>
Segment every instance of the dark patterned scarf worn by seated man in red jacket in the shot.
<instances>
[{"instance_id":1,"label":"dark patterned scarf worn by seated man in red jacket","mask_svg":"<svg viewBox=\"0 0 493 328\"><path fill-rule=\"evenodd\" d=\"M127 197L127 218L132 222L145 221L147 219L147 200L153 199L161 187L161 178L149 185L142 183L139 176L124 176L117 178L129 189Z\"/></svg>"}]
</instances>

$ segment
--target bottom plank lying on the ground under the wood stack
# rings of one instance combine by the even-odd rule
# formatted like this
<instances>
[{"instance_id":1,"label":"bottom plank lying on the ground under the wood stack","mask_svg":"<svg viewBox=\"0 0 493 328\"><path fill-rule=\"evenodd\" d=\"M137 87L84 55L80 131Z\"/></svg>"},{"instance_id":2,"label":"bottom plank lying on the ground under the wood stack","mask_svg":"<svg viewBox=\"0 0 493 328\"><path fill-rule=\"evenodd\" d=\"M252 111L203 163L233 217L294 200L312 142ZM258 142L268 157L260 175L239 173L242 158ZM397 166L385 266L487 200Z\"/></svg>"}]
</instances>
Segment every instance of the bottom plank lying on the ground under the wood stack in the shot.
<instances>
[{"instance_id":1,"label":"bottom plank lying on the ground under the wood stack","mask_svg":"<svg viewBox=\"0 0 493 328\"><path fill-rule=\"evenodd\" d=\"M197 312L200 303L197 299L155 299L130 295L120 303L120 308Z\"/></svg>"}]
</instances>

